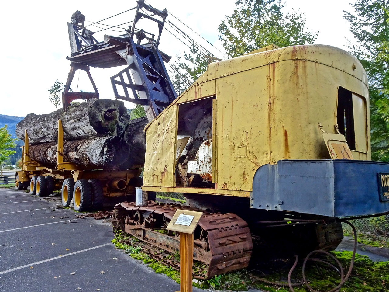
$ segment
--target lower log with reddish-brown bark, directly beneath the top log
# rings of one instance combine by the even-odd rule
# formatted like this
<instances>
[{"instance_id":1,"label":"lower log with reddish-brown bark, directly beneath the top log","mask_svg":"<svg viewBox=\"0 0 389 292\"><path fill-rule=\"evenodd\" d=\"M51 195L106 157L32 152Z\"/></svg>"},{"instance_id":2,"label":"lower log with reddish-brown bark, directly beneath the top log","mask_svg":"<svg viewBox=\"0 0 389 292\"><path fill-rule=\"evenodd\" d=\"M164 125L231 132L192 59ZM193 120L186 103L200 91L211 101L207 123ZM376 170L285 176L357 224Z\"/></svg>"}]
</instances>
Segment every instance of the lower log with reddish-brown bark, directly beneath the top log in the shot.
<instances>
[{"instance_id":1,"label":"lower log with reddish-brown bark, directly beneath the top log","mask_svg":"<svg viewBox=\"0 0 389 292\"><path fill-rule=\"evenodd\" d=\"M28 155L44 166L57 164L56 142L31 145ZM130 148L119 136L99 137L63 142L64 161L80 165L83 169L101 167L116 169L126 162L130 156Z\"/></svg>"}]
</instances>

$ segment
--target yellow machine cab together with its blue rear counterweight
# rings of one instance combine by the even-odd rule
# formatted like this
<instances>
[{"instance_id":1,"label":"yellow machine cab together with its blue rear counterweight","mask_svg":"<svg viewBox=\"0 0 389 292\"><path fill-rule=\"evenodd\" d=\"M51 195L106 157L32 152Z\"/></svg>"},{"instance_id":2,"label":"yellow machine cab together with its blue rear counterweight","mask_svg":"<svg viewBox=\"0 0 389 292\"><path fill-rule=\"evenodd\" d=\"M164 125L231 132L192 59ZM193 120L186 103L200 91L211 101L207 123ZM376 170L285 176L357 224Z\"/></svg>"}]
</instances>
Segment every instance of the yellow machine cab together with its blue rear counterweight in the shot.
<instances>
[{"instance_id":1,"label":"yellow machine cab together with its blue rear counterweight","mask_svg":"<svg viewBox=\"0 0 389 292\"><path fill-rule=\"evenodd\" d=\"M377 184L389 164L369 161L368 109L361 63L336 47L268 46L211 63L145 128L143 189L324 216L389 211ZM332 159L324 132L354 160Z\"/></svg>"}]
</instances>

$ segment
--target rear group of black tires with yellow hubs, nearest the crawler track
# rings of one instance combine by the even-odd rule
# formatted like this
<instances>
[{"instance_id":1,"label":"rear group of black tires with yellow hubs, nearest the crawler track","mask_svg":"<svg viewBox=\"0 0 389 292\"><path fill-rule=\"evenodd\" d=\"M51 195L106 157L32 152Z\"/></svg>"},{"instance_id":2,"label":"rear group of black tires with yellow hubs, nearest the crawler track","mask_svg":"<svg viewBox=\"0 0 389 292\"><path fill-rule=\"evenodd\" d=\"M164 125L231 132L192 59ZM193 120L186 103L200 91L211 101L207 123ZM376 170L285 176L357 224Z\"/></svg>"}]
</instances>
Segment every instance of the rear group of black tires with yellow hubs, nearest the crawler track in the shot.
<instances>
[{"instance_id":1,"label":"rear group of black tires with yellow hubs, nearest the crawler track","mask_svg":"<svg viewBox=\"0 0 389 292\"><path fill-rule=\"evenodd\" d=\"M62 205L69 207L73 199L75 211L99 210L103 205L103 188L98 179L67 178L62 184Z\"/></svg>"}]
</instances>

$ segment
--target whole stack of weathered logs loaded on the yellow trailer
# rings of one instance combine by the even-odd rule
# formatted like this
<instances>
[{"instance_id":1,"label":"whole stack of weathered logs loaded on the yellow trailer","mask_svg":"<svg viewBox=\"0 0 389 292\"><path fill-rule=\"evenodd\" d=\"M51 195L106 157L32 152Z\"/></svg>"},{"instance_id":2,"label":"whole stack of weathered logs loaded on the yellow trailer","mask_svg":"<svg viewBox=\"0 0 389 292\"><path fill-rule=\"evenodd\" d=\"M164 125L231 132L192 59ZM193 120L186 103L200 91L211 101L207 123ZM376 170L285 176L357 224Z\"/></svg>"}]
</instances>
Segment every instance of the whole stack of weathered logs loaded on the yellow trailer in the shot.
<instances>
[{"instance_id":1,"label":"whole stack of weathered logs loaded on the yellow trailer","mask_svg":"<svg viewBox=\"0 0 389 292\"><path fill-rule=\"evenodd\" d=\"M81 169L129 169L145 161L146 117L130 120L123 102L91 99L50 114L28 114L16 125L24 140L27 130L29 156L43 166L57 164L58 120L63 127L63 158Z\"/></svg>"}]
</instances>

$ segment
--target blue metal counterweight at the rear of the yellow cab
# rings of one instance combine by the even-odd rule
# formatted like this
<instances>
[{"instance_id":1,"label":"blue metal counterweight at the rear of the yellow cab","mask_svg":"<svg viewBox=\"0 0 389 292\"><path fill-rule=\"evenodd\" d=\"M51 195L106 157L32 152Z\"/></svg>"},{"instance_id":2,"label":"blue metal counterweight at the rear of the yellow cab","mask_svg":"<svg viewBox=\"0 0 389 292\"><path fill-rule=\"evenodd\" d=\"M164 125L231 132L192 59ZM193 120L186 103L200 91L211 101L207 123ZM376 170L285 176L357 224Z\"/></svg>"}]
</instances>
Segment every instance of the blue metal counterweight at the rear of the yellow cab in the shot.
<instances>
[{"instance_id":1,"label":"blue metal counterweight at the rear of the yellow cab","mask_svg":"<svg viewBox=\"0 0 389 292\"><path fill-rule=\"evenodd\" d=\"M389 211L380 200L377 173L389 163L361 160L280 160L254 174L251 208L323 216Z\"/></svg>"}]
</instances>

